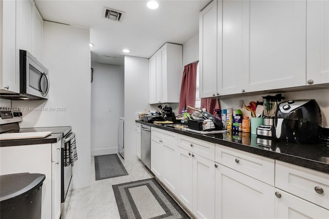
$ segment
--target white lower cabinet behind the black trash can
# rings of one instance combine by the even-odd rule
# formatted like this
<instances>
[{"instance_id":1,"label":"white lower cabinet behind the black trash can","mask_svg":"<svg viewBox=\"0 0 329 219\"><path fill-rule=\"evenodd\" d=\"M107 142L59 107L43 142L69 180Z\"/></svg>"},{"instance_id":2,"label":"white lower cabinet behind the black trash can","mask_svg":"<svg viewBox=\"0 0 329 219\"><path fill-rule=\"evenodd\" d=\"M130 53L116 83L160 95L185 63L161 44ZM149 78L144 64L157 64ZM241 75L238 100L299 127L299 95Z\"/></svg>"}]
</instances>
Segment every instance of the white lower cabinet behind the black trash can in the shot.
<instances>
[{"instance_id":1,"label":"white lower cabinet behind the black trash can","mask_svg":"<svg viewBox=\"0 0 329 219\"><path fill-rule=\"evenodd\" d=\"M61 216L61 142L0 148L0 173L41 173L41 218ZM14 162L13 162L14 160Z\"/></svg>"}]
</instances>

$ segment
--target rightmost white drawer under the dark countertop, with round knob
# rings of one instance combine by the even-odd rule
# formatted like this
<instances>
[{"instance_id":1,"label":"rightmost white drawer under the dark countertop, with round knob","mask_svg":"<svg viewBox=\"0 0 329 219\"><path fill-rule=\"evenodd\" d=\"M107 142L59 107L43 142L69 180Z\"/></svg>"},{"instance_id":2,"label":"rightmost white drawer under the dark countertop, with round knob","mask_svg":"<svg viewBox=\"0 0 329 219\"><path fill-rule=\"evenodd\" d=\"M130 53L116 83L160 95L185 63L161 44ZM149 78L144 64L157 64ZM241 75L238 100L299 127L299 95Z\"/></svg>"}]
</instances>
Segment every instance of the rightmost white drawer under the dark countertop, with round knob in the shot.
<instances>
[{"instance_id":1,"label":"rightmost white drawer under the dark countertop, with round knob","mask_svg":"<svg viewBox=\"0 0 329 219\"><path fill-rule=\"evenodd\" d=\"M329 174L276 161L276 187L329 209Z\"/></svg>"}]
</instances>

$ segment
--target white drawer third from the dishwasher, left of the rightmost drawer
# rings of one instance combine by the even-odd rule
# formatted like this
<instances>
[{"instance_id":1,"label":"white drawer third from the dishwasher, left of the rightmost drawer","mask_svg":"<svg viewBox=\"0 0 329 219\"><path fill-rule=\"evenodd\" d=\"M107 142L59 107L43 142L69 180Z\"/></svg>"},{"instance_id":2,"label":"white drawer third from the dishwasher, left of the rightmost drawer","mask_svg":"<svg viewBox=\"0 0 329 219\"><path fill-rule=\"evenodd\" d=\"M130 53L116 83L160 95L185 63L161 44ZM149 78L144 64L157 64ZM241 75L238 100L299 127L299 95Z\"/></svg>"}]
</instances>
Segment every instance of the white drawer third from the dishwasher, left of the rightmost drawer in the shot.
<instances>
[{"instance_id":1,"label":"white drawer third from the dishwasher, left of the rightmost drawer","mask_svg":"<svg viewBox=\"0 0 329 219\"><path fill-rule=\"evenodd\" d=\"M274 186L275 160L216 144L215 161Z\"/></svg>"}]
</instances>

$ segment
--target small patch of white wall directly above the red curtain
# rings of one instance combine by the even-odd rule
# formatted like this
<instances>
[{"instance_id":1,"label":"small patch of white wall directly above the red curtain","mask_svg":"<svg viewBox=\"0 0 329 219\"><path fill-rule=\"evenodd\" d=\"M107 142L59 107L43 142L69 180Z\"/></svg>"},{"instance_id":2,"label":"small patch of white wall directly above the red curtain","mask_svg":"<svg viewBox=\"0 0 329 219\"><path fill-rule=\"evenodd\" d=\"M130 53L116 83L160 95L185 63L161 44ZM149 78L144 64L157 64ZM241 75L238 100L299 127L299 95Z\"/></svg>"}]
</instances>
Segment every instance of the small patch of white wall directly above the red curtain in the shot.
<instances>
[{"instance_id":1,"label":"small patch of white wall directly above the red curtain","mask_svg":"<svg viewBox=\"0 0 329 219\"><path fill-rule=\"evenodd\" d=\"M199 60L199 34L183 44L183 66Z\"/></svg>"}]
</instances>

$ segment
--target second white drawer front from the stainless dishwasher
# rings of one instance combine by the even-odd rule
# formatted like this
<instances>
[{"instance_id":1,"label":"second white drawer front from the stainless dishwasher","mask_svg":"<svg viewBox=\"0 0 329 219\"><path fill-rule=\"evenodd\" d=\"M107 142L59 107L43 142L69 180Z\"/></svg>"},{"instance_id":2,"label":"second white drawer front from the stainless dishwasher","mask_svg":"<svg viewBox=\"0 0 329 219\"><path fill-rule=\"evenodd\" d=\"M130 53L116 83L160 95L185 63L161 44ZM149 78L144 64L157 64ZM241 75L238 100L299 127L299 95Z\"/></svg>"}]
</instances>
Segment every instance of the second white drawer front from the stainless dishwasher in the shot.
<instances>
[{"instance_id":1,"label":"second white drawer front from the stainless dishwasher","mask_svg":"<svg viewBox=\"0 0 329 219\"><path fill-rule=\"evenodd\" d=\"M191 138L184 135L178 136L178 146L197 155L215 160L215 144L207 141Z\"/></svg>"}]
</instances>

